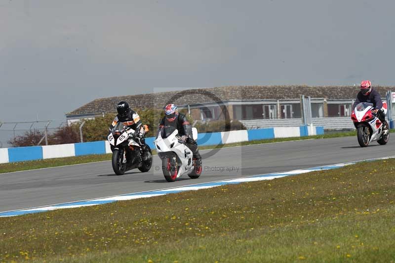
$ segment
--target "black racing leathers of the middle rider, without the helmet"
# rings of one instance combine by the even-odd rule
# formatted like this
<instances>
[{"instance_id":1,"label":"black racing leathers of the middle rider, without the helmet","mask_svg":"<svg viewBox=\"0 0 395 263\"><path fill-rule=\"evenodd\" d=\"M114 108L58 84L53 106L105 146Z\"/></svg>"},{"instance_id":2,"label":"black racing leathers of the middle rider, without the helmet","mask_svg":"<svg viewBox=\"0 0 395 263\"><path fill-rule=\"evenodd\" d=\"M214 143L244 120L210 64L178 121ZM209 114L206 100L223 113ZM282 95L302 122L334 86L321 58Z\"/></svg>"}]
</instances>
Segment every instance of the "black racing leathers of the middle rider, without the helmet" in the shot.
<instances>
[{"instance_id":1,"label":"black racing leathers of the middle rider, without the helmet","mask_svg":"<svg viewBox=\"0 0 395 263\"><path fill-rule=\"evenodd\" d=\"M176 128L179 135L185 135L187 137L185 143L187 144L188 148L191 149L196 165L201 166L201 156L199 150L197 149L197 142L193 139L192 127L187 120L187 117L182 113L178 113L177 117L173 121L167 120L166 116L163 117L159 123L158 133L161 132L164 127L168 126Z\"/></svg>"}]
</instances>

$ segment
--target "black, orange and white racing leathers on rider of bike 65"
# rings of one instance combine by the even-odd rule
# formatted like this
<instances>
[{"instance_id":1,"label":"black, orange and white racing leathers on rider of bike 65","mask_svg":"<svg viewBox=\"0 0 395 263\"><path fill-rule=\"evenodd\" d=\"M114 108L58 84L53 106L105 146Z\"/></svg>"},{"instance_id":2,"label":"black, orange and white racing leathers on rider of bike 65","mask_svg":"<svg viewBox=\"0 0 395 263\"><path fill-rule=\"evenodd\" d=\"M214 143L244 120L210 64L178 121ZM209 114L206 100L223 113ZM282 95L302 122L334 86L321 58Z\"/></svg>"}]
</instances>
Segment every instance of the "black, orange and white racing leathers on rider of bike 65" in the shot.
<instances>
[{"instance_id":1,"label":"black, orange and white racing leathers on rider of bike 65","mask_svg":"<svg viewBox=\"0 0 395 263\"><path fill-rule=\"evenodd\" d=\"M129 127L134 130L134 137L136 141L142 146L145 146L144 139L144 129L142 127L142 122L140 120L140 116L132 109L129 109L129 112L124 116L120 116L117 114L113 123L110 125L109 132L113 130L113 128L117 125L118 122L123 123L124 126Z\"/></svg>"}]
</instances>

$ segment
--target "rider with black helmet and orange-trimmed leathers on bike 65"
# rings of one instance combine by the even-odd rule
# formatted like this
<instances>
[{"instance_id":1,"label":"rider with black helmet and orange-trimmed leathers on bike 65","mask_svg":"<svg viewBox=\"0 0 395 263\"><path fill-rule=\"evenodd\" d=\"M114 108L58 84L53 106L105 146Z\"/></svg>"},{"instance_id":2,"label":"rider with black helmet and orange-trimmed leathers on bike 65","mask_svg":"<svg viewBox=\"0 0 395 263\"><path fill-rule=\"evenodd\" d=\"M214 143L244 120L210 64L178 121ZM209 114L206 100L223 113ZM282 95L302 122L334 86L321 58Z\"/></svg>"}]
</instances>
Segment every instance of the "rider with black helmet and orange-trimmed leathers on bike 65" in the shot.
<instances>
[{"instance_id":1,"label":"rider with black helmet and orange-trimmed leathers on bike 65","mask_svg":"<svg viewBox=\"0 0 395 263\"><path fill-rule=\"evenodd\" d=\"M137 142L141 145L141 149L145 149L144 139L144 128L140 120L140 116L134 110L129 108L129 103L126 101L119 101L117 104L117 116L113 123L110 125L110 132L117 125L118 122L122 122L124 126L134 130L133 137L137 139Z\"/></svg>"}]
</instances>

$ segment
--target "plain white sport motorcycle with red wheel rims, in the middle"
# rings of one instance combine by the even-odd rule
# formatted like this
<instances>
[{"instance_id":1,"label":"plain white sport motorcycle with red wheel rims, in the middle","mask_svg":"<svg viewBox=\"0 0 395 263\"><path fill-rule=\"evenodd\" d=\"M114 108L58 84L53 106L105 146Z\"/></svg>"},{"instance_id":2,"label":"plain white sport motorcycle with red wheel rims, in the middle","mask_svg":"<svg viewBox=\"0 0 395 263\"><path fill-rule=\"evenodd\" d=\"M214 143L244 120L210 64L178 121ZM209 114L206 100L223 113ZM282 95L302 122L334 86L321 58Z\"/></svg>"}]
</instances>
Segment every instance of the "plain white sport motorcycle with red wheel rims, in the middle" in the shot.
<instances>
[{"instance_id":1,"label":"plain white sport motorcycle with red wheel rims, in the middle","mask_svg":"<svg viewBox=\"0 0 395 263\"><path fill-rule=\"evenodd\" d=\"M197 130L192 128L193 140L196 143ZM190 139L190 138L189 138ZM158 156L162 161L163 176L168 182L174 182L176 178L189 173L190 178L198 178L201 174L201 167L197 168L193 162L192 150L178 134L178 130L172 126L164 127L158 133L154 141Z\"/></svg>"}]
</instances>

